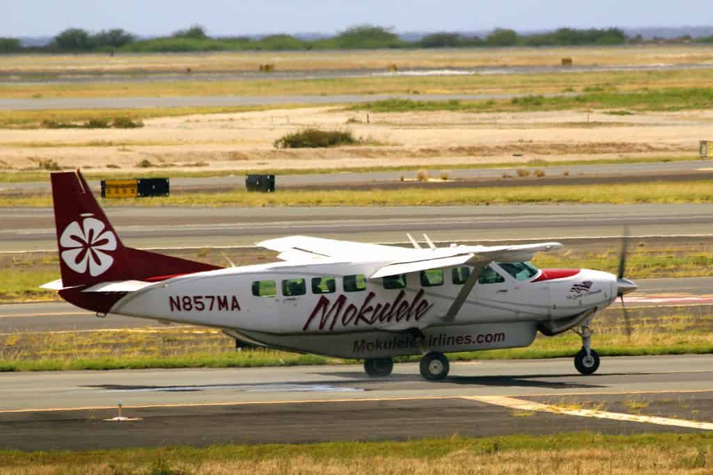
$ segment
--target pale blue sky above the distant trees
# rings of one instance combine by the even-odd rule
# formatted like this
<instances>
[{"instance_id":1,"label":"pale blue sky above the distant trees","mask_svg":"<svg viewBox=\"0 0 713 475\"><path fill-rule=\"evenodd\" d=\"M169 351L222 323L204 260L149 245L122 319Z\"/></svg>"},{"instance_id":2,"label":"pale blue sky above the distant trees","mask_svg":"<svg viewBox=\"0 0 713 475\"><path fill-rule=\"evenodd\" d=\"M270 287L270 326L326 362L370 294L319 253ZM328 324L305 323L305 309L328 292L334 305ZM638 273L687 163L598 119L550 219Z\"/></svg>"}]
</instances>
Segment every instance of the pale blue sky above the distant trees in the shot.
<instances>
[{"instance_id":1,"label":"pale blue sky above the distant trees","mask_svg":"<svg viewBox=\"0 0 713 475\"><path fill-rule=\"evenodd\" d=\"M200 24L211 36L327 33L355 24L405 31L533 31L571 26L704 26L710 0L0 0L0 37L68 27L140 36Z\"/></svg>"}]
</instances>

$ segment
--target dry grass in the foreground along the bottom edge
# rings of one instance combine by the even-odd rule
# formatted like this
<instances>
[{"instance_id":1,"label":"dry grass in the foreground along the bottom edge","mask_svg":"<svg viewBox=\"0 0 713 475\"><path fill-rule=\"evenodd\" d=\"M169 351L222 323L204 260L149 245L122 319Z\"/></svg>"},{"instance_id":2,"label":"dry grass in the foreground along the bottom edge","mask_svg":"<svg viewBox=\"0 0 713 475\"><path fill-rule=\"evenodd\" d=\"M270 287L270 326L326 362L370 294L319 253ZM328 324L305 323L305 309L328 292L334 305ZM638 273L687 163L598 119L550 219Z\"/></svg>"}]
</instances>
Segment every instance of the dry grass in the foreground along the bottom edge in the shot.
<instances>
[{"instance_id":1,"label":"dry grass in the foreground along the bottom edge","mask_svg":"<svg viewBox=\"0 0 713 475\"><path fill-rule=\"evenodd\" d=\"M29 474L705 474L710 434L550 436L329 442L205 448L0 452L0 469Z\"/></svg>"}]
</instances>

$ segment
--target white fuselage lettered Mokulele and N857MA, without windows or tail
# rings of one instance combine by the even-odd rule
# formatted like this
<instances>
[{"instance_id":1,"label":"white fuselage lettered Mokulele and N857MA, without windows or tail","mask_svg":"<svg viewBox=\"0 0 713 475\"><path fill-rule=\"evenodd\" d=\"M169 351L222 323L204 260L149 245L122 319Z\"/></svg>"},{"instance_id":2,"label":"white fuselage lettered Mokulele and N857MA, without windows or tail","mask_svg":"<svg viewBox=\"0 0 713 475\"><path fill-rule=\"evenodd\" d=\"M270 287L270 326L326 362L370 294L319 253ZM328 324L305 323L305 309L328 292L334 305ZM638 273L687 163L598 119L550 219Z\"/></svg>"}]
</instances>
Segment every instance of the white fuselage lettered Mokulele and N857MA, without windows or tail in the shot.
<instances>
[{"instance_id":1,"label":"white fuselage lettered Mokulele and N857MA, without windows or tail","mask_svg":"<svg viewBox=\"0 0 713 475\"><path fill-rule=\"evenodd\" d=\"M230 330L264 345L338 357L419 354L421 344L441 353L530 345L538 324L601 310L617 296L616 278L582 270L574 276L518 281L496 263L503 282L476 283L454 318L445 318L462 283L451 268L443 283L424 286L419 272L405 288L384 288L381 278L345 291L344 276L369 276L384 261L278 262L225 268L155 283L129 293L111 313ZM334 291L314 293L312 278L334 278ZM285 295L282 281L305 279L303 295ZM271 296L254 295L255 282L274 281ZM585 283L585 287L580 286Z\"/></svg>"}]
</instances>

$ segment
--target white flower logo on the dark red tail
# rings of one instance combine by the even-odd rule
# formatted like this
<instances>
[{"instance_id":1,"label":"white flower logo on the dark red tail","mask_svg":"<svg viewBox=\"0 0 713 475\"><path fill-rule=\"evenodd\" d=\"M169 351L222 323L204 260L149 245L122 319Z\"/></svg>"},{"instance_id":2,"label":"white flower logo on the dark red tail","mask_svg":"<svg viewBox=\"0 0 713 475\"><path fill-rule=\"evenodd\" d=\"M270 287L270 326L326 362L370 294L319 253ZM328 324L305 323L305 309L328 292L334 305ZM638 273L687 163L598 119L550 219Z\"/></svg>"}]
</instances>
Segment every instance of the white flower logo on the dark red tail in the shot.
<instances>
[{"instance_id":1,"label":"white flower logo on the dark red tail","mask_svg":"<svg viewBox=\"0 0 713 475\"><path fill-rule=\"evenodd\" d=\"M116 249L116 236L107 231L106 225L96 218L85 218L81 227L73 221L59 238L62 260L76 273L89 269L92 277L108 271L114 258L104 251Z\"/></svg>"}]
</instances>

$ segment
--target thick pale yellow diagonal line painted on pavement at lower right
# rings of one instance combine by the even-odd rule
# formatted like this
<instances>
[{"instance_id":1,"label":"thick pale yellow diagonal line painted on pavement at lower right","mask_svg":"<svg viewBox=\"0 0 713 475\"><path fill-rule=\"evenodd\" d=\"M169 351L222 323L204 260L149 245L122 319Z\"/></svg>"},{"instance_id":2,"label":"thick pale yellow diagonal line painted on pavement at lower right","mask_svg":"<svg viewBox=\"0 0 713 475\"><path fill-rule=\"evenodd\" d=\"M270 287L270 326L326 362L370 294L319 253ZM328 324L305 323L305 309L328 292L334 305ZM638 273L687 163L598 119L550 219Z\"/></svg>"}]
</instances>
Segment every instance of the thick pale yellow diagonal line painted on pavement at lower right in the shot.
<instances>
[{"instance_id":1,"label":"thick pale yellow diagonal line painted on pavement at lower right","mask_svg":"<svg viewBox=\"0 0 713 475\"><path fill-rule=\"evenodd\" d=\"M713 430L710 422L696 422L686 419L671 419L669 417L641 416L635 414L623 414L621 412L597 411L594 409L566 409L563 407L543 404L541 402L531 402L514 397L506 396L463 396L462 399L469 401L484 402L520 411L553 412L554 414L566 414L568 416L595 417L597 419L610 419L625 422L642 422L645 424L657 424L662 426L686 427L688 429Z\"/></svg>"}]
</instances>

